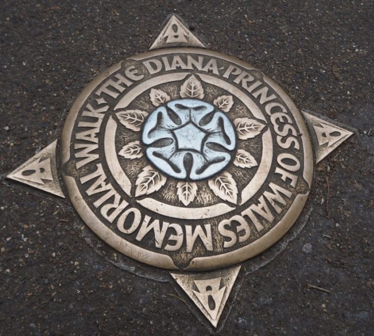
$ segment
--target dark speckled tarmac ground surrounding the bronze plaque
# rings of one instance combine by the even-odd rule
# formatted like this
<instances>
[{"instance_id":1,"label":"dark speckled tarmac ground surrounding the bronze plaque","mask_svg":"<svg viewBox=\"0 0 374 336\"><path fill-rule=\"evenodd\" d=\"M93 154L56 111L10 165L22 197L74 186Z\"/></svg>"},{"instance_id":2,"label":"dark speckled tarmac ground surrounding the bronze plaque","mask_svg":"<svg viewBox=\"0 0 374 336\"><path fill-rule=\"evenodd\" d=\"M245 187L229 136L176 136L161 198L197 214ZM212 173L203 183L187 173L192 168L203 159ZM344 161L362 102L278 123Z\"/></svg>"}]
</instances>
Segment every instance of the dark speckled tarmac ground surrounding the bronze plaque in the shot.
<instances>
[{"instance_id":1,"label":"dark speckled tarmac ground surrounding the bronze plaque","mask_svg":"<svg viewBox=\"0 0 374 336\"><path fill-rule=\"evenodd\" d=\"M305 227L242 273L217 331L171 281L117 263L67 200L4 179L59 136L85 85L147 50L173 13L299 109L357 129L316 166ZM374 335L373 33L364 0L2 0L0 335Z\"/></svg>"}]
</instances>

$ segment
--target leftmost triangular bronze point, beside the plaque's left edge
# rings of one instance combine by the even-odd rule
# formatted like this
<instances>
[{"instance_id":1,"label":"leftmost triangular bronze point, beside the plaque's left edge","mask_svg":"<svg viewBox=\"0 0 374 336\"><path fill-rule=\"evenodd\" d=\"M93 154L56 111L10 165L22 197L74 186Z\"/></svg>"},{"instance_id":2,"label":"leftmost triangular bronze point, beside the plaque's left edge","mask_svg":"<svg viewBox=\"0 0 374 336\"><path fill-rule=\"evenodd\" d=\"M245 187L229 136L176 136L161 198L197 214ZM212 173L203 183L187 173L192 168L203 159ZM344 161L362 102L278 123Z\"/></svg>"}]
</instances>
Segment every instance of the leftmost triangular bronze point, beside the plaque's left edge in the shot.
<instances>
[{"instance_id":1,"label":"leftmost triangular bronze point, beside the plaque's left edge","mask_svg":"<svg viewBox=\"0 0 374 336\"><path fill-rule=\"evenodd\" d=\"M6 177L34 188L65 197L58 181L56 144L53 141Z\"/></svg>"}]
</instances>

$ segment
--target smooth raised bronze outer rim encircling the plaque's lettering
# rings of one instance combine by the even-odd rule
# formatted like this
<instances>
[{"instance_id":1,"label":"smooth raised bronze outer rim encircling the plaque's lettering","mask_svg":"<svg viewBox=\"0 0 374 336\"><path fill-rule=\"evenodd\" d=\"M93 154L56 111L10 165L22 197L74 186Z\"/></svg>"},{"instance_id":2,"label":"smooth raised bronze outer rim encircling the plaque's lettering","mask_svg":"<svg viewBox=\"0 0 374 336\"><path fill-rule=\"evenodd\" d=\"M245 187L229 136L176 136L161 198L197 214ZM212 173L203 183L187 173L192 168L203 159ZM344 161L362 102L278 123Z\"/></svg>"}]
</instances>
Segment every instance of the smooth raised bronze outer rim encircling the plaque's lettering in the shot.
<instances>
[{"instance_id":1,"label":"smooth raised bronze outer rim encircling the plaque's lettering","mask_svg":"<svg viewBox=\"0 0 374 336\"><path fill-rule=\"evenodd\" d=\"M207 56L215 56L218 58L225 59L234 64L238 64L246 69L255 69L251 65L238 60L235 57L228 56L217 51L201 49L201 48L166 48L166 49L156 49L148 51L136 56L131 57L134 60L140 60L148 58L151 56L163 55L163 54L175 54L175 53L199 53ZM120 63L114 64L107 70L102 72L98 77L92 80L82 91L82 93L75 100L73 106L71 107L64 128L61 135L61 162L66 163L70 158L70 139L72 130L74 127L75 119L81 109L83 103L92 93L92 90L96 88L103 80L108 78L114 72L118 71L120 68ZM296 124L302 133L301 138L303 141L304 150L304 172L303 176L309 185L309 189L312 182L313 176L313 151L311 146L311 141L309 137L308 129L306 128L302 114L296 108L295 104L291 101L289 96L283 91L283 89L276 84L273 80L269 79L264 75L264 80L277 92L277 94L283 99L283 101L288 106L293 117L295 118ZM118 250L125 256L129 256L133 259L141 261L151 266L160 267L164 269L176 269L170 256L152 252L140 248L139 246L128 242L116 235L112 230L110 230L106 225L102 224L101 221L93 214L91 209L85 203L82 195L78 191L78 186L75 180L70 176L65 176L63 174L64 182L67 186L68 195L74 208L84 220L90 229L98 235L102 240L108 243L110 246ZM283 216L283 218L264 236L260 237L258 240L241 247L235 251L224 253L217 256L207 256L207 257L196 257L192 259L190 265L185 269L186 271L203 271L227 267L242 261L245 261L262 251L268 249L277 240L283 237L290 227L295 223L296 219L299 217L309 192L306 194L299 194L296 196L292 205Z\"/></svg>"}]
</instances>

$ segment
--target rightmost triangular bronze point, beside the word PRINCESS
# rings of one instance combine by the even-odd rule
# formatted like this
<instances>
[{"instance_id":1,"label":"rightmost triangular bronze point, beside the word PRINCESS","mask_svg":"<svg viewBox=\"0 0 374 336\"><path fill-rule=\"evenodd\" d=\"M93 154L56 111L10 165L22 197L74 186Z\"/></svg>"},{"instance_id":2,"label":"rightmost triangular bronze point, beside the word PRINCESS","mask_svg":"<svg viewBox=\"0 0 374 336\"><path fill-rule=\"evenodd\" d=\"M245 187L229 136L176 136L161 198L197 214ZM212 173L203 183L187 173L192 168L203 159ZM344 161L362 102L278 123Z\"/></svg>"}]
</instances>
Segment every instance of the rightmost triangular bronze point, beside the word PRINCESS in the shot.
<instances>
[{"instance_id":1,"label":"rightmost triangular bronze point, beside the word PRINCESS","mask_svg":"<svg viewBox=\"0 0 374 336\"><path fill-rule=\"evenodd\" d=\"M323 160L353 134L332 120L326 121L313 114L302 112L309 124L309 129L314 132L314 136L312 134L311 138L314 144L316 163Z\"/></svg>"}]
</instances>

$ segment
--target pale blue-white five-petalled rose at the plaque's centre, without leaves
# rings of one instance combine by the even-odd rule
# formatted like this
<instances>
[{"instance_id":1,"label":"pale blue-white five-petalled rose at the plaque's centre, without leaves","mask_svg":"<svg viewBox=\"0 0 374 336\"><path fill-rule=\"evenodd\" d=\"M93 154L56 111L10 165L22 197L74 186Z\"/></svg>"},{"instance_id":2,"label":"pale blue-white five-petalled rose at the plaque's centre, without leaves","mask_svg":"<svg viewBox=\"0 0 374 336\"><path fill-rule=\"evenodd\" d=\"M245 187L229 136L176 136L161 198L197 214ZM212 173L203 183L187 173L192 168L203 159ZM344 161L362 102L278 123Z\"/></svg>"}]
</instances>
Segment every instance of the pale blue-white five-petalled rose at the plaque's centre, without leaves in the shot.
<instances>
[{"instance_id":1,"label":"pale blue-white five-petalled rose at the plaque's centre, without leaves","mask_svg":"<svg viewBox=\"0 0 374 336\"><path fill-rule=\"evenodd\" d=\"M232 158L235 129L227 116L197 99L158 107L142 132L148 159L178 179L201 180L217 174Z\"/></svg>"}]
</instances>

